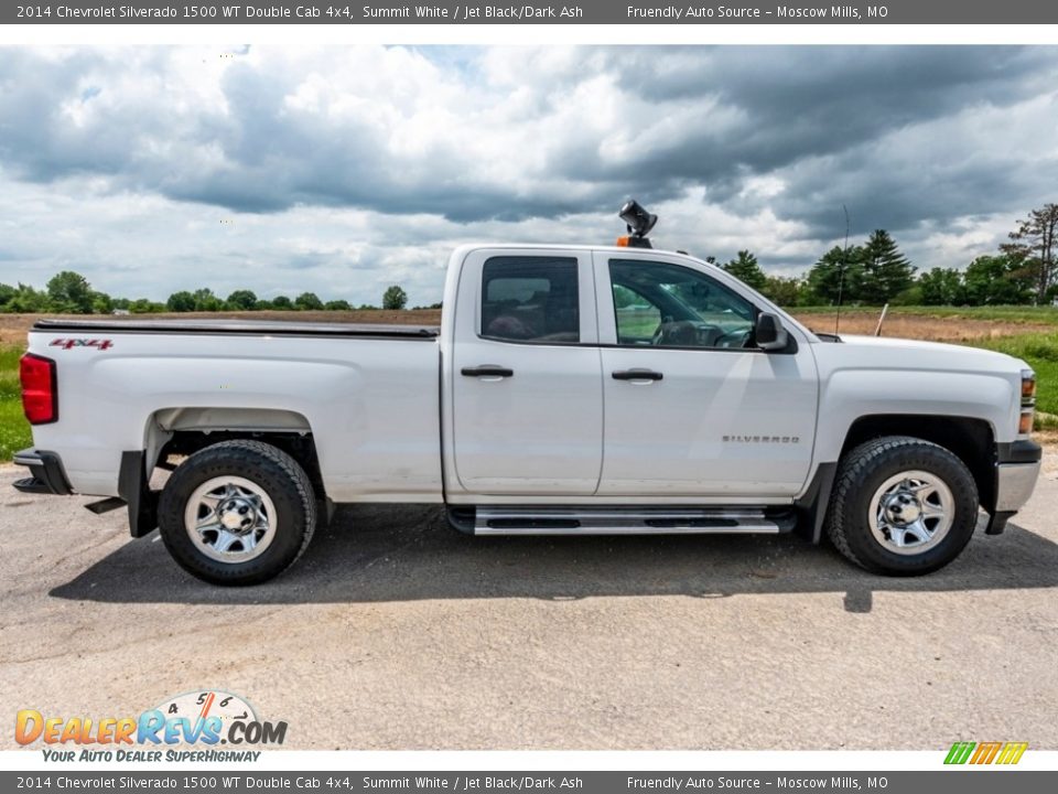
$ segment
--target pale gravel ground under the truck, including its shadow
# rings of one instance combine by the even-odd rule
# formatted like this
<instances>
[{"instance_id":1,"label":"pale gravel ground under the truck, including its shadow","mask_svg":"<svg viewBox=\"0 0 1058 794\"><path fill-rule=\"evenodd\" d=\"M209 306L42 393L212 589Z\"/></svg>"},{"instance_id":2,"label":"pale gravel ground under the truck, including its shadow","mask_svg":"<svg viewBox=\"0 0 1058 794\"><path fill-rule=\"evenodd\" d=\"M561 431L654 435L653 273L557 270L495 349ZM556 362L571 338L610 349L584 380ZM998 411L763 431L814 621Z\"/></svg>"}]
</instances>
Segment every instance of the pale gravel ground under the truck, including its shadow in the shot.
<instances>
[{"instance_id":1,"label":"pale gravel ground under the truck, including its shadow","mask_svg":"<svg viewBox=\"0 0 1058 794\"><path fill-rule=\"evenodd\" d=\"M238 693L298 749L1058 749L1058 454L1001 537L870 576L797 537L472 538L339 509L258 588L0 468L0 715ZM14 747L0 733L0 748Z\"/></svg>"}]
</instances>

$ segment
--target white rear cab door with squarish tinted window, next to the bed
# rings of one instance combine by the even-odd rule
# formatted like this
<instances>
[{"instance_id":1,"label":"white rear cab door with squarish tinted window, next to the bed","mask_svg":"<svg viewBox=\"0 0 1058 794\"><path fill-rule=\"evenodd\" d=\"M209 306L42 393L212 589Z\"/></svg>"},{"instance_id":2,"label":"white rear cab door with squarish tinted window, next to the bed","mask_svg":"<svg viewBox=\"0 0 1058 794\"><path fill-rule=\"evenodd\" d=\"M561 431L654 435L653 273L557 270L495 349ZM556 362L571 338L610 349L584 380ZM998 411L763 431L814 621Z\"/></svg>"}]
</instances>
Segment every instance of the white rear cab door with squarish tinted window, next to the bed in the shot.
<instances>
[{"instance_id":1,"label":"white rear cab door with squarish tinted window, next to the bed","mask_svg":"<svg viewBox=\"0 0 1058 794\"><path fill-rule=\"evenodd\" d=\"M463 489L594 493L603 395L591 254L471 251L455 322L452 443Z\"/></svg>"}]
</instances>

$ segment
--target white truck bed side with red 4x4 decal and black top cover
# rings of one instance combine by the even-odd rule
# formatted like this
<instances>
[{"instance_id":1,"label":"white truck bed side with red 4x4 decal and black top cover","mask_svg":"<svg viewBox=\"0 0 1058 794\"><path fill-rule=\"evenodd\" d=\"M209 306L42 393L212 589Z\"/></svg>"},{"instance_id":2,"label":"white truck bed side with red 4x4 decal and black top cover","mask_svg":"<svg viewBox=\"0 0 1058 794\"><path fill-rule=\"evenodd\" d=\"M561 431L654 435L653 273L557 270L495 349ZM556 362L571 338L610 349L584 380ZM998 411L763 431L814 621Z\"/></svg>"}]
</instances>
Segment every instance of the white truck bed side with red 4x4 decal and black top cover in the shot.
<instances>
[{"instance_id":1,"label":"white truck bed side with red 4x4 decal and black top cover","mask_svg":"<svg viewBox=\"0 0 1058 794\"><path fill-rule=\"evenodd\" d=\"M75 492L115 496L122 454L174 432L311 433L334 501L440 501L439 339L415 325L41 320L30 351L55 362L60 408L34 441L62 452Z\"/></svg>"}]
</instances>

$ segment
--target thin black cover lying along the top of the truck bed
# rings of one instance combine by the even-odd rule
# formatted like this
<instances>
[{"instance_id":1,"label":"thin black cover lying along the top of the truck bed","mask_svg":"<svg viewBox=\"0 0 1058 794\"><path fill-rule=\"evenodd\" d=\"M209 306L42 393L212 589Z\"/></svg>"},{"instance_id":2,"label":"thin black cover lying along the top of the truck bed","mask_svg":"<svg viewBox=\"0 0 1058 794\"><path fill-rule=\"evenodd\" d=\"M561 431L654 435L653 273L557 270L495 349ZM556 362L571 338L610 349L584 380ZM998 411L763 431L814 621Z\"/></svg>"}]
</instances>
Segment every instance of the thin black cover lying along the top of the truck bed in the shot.
<instances>
[{"instance_id":1,"label":"thin black cover lying along the top of the truck bed","mask_svg":"<svg viewBox=\"0 0 1058 794\"><path fill-rule=\"evenodd\" d=\"M441 333L441 329L435 325L307 323L285 320L37 320L33 330L244 336L367 336L402 340L434 340Z\"/></svg>"}]
</instances>

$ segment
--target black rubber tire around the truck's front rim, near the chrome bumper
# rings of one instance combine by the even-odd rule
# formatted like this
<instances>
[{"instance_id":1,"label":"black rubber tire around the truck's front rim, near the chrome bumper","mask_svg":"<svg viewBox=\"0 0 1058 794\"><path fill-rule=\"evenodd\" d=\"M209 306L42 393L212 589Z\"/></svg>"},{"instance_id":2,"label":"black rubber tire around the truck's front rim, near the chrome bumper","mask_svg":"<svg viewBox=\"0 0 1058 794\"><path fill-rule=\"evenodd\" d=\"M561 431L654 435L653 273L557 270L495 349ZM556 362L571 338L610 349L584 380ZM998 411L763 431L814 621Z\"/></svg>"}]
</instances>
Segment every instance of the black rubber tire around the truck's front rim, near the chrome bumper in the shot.
<instances>
[{"instance_id":1,"label":"black rubber tire around the truck's front rim, near the chrome bumper","mask_svg":"<svg viewBox=\"0 0 1058 794\"><path fill-rule=\"evenodd\" d=\"M926 472L941 481L950 492L954 515L936 545L917 554L899 554L872 532L871 514L877 508L871 503L887 481L909 471ZM959 458L929 441L888 436L860 444L841 460L825 527L838 550L861 568L886 576L921 576L958 557L976 523L978 486Z\"/></svg>"}]
</instances>

